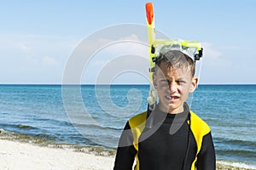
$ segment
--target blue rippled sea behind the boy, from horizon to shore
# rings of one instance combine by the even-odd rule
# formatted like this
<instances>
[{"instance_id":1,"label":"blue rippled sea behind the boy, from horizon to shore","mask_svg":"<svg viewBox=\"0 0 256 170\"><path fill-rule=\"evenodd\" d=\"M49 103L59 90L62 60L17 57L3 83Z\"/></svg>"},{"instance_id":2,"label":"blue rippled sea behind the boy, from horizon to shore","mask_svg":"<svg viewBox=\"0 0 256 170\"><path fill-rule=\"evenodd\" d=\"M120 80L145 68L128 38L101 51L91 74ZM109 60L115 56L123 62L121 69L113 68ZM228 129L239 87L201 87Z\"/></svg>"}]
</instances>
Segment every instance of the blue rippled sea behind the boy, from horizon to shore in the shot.
<instances>
[{"instance_id":1,"label":"blue rippled sea behind the boy, from horizon to shore","mask_svg":"<svg viewBox=\"0 0 256 170\"><path fill-rule=\"evenodd\" d=\"M148 85L0 85L0 128L57 144L115 149L147 110ZM199 85L190 109L211 127L217 161L256 169L256 85Z\"/></svg>"}]
</instances>

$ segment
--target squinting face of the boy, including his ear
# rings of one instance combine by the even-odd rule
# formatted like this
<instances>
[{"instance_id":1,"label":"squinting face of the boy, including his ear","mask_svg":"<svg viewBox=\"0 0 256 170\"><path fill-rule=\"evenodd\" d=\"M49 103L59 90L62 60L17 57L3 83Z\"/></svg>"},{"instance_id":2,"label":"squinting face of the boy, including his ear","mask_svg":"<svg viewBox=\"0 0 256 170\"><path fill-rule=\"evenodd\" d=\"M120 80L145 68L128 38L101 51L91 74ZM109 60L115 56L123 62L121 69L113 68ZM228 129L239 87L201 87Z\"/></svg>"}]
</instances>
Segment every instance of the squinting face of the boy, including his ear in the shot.
<instances>
[{"instance_id":1,"label":"squinting face of the boy, including his ear","mask_svg":"<svg viewBox=\"0 0 256 170\"><path fill-rule=\"evenodd\" d=\"M160 99L160 110L172 114L183 112L183 103L194 92L198 78L189 69L160 63L153 76L154 88Z\"/></svg>"}]
</instances>

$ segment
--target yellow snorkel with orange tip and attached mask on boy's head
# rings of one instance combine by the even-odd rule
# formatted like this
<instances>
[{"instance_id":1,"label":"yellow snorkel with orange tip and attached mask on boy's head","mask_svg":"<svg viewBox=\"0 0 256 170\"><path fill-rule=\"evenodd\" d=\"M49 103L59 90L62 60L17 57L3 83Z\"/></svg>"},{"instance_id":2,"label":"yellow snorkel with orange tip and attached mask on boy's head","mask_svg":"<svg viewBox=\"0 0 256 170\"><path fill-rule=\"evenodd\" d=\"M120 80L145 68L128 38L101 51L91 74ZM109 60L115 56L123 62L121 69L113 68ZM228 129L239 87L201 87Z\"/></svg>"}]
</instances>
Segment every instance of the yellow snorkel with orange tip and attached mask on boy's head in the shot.
<instances>
[{"instance_id":1,"label":"yellow snorkel with orange tip and attached mask on boy's head","mask_svg":"<svg viewBox=\"0 0 256 170\"><path fill-rule=\"evenodd\" d=\"M147 28L148 28L148 56L149 56L149 80L150 88L148 92L148 111L146 127L151 128L153 126L153 116L150 116L154 111L157 104L157 92L153 84L153 73L155 62L159 59L160 54L164 54L166 51L178 50L183 54L187 54L191 59L195 61L200 60L203 55L203 49L200 42L188 41L183 39L155 39L155 26L154 26L154 9L153 3L146 3L146 15L147 15Z\"/></svg>"}]
</instances>

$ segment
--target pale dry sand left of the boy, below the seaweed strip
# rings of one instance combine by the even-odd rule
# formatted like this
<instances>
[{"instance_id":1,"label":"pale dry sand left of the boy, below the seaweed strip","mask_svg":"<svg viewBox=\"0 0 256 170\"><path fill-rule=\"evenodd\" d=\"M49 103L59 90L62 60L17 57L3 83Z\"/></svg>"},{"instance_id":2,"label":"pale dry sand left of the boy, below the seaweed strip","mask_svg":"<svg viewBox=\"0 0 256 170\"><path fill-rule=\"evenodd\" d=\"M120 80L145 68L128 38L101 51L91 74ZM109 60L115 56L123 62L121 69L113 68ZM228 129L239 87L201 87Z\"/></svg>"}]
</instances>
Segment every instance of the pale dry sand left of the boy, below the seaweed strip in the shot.
<instances>
[{"instance_id":1,"label":"pale dry sand left of the boy, below the seaweed strip","mask_svg":"<svg viewBox=\"0 0 256 170\"><path fill-rule=\"evenodd\" d=\"M113 156L96 156L71 148L51 148L5 139L0 140L0 169L113 168Z\"/></svg>"}]
</instances>

